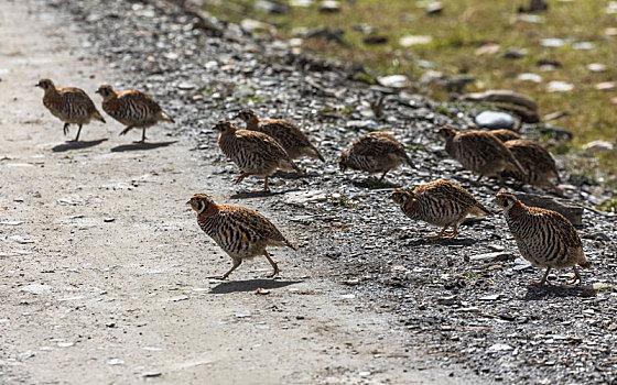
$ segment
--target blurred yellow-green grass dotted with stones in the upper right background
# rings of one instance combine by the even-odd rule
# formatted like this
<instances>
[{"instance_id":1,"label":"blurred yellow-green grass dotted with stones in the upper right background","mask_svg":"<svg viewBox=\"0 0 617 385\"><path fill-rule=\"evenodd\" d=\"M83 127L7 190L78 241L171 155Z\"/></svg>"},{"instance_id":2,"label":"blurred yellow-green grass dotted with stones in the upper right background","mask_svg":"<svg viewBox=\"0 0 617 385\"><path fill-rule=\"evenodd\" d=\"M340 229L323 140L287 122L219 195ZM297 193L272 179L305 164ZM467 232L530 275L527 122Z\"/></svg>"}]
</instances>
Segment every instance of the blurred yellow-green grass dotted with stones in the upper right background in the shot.
<instances>
[{"instance_id":1,"label":"blurred yellow-green grass dotted with stones in the upper right background","mask_svg":"<svg viewBox=\"0 0 617 385\"><path fill-rule=\"evenodd\" d=\"M553 122L574 132L572 146L578 147L592 140L614 141L617 125L617 106L610 99L617 91L598 91L594 88L600 81L617 80L617 37L605 35L607 28L617 26L615 15L606 14L607 0L551 1L549 12L538 13L543 23L528 23L517 20L516 9L527 1L511 0L457 0L444 1L442 15L427 16L420 1L411 0L356 0L342 1L342 12L324 14L318 12L318 1L310 8L292 8L283 15L255 11L255 0L204 0L204 8L216 16L239 22L245 18L269 22L277 26L280 37L293 37L297 28L322 26L345 30L345 44L305 40L303 50L321 56L337 58L346 63L359 63L372 76L404 74L419 79L425 69L418 61L434 63L436 70L448 75L470 74L478 77L468 90L491 88L513 89L538 101L540 114L569 111L570 116ZM379 15L379 16L377 16ZM385 45L366 45L365 34L353 29L368 23L380 35L389 37ZM431 35L426 45L409 48L399 45L405 35ZM563 47L549 48L540 45L541 40L565 38ZM592 51L576 51L573 42L592 42ZM507 59L497 55L475 55L475 51L486 43L497 43L505 51L509 47L524 48L526 57ZM562 63L554 72L541 72L538 59L550 58ZM604 73L591 73L586 66L603 63ZM517 75L534 73L543 77L541 84L520 82ZM571 92L549 94L545 87L551 80L571 82ZM445 97L434 92L433 98ZM599 166L609 174L617 174L616 156L603 156Z\"/></svg>"}]
</instances>

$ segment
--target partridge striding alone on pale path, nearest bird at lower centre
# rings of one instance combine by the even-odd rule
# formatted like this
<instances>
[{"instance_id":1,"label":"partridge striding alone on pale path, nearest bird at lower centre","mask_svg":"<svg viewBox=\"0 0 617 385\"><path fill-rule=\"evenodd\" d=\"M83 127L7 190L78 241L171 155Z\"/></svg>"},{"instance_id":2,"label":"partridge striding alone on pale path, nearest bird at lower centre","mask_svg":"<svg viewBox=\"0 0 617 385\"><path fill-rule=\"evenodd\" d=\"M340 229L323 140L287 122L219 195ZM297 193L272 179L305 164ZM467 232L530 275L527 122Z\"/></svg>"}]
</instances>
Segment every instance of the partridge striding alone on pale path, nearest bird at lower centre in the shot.
<instances>
[{"instance_id":1,"label":"partridge striding alone on pale path, nearest bird at lower centre","mask_svg":"<svg viewBox=\"0 0 617 385\"><path fill-rule=\"evenodd\" d=\"M231 268L220 276L210 278L226 279L242 260L263 255L274 271L268 277L279 274L279 266L266 250L267 246L288 246L291 244L266 217L257 211L230 205L217 205L205 194L195 194L186 205L197 211L197 222L234 261Z\"/></svg>"}]
</instances>

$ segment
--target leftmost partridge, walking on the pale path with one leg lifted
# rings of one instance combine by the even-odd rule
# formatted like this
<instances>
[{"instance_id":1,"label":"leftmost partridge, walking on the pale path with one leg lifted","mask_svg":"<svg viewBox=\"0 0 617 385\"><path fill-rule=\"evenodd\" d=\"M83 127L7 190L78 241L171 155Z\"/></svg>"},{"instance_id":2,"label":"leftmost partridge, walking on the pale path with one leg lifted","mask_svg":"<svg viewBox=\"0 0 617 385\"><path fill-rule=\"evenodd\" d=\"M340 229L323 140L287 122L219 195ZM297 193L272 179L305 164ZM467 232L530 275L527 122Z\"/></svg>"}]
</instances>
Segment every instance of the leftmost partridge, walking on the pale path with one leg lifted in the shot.
<instances>
[{"instance_id":1,"label":"leftmost partridge, walking on the pale path with one leg lifted","mask_svg":"<svg viewBox=\"0 0 617 385\"><path fill-rule=\"evenodd\" d=\"M79 125L75 142L79 140L82 125L89 123L93 119L105 123L105 119L102 119L95 103L84 90L74 87L56 87L50 79L39 80L35 87L41 87L45 90L43 105L54 117L64 122L65 135L68 133L69 124Z\"/></svg>"}]
</instances>

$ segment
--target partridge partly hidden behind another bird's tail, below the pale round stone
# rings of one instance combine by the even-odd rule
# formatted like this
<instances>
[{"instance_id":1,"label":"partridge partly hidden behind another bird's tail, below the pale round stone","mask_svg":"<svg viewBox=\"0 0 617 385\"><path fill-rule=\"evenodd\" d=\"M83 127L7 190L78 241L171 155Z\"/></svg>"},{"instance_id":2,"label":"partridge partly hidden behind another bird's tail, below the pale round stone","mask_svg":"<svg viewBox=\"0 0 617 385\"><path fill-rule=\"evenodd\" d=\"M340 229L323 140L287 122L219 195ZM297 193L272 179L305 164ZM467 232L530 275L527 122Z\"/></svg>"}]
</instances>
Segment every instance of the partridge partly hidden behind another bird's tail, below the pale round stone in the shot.
<instances>
[{"instance_id":1,"label":"partridge partly hidden behind another bird's tail, below the pale round stone","mask_svg":"<svg viewBox=\"0 0 617 385\"><path fill-rule=\"evenodd\" d=\"M518 139L508 141L504 145L510 150L526 170L526 174L505 172L505 175L528 185L552 188L558 195L563 196L563 193L550 180L555 179L561 183L555 161L540 143Z\"/></svg>"}]
</instances>

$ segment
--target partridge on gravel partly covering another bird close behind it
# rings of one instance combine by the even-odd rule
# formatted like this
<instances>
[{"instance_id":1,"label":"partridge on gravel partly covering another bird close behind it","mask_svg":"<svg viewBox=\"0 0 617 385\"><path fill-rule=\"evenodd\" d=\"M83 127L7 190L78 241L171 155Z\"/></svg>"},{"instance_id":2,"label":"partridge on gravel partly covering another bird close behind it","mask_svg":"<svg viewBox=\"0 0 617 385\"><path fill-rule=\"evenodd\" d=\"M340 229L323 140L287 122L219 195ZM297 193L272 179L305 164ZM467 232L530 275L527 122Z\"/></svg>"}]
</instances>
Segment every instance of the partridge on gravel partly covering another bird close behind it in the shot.
<instances>
[{"instance_id":1,"label":"partridge on gravel partly covering another bird close behind it","mask_svg":"<svg viewBox=\"0 0 617 385\"><path fill-rule=\"evenodd\" d=\"M277 169L296 170L297 165L293 163L285 150L272 139L258 131L238 130L229 121L220 121L214 130L219 131L218 145L242 172L236 183L240 183L249 175L264 177L262 191L269 191L268 179Z\"/></svg>"}]
</instances>

